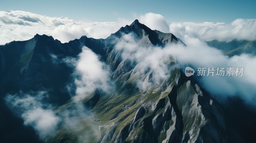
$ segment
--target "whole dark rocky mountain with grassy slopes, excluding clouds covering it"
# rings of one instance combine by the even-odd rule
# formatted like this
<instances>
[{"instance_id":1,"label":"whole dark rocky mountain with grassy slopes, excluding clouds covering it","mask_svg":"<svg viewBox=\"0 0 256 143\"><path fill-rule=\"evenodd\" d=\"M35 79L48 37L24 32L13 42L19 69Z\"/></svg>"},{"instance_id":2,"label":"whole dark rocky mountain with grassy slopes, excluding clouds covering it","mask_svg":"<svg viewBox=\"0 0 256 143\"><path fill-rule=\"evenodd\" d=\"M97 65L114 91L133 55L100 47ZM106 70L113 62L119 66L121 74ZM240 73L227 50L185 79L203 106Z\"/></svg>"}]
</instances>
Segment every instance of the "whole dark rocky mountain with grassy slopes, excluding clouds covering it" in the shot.
<instances>
[{"instance_id":1,"label":"whole dark rocky mountain with grassy slopes, excluding clouds covering it","mask_svg":"<svg viewBox=\"0 0 256 143\"><path fill-rule=\"evenodd\" d=\"M86 46L109 66L110 78L115 82L116 91L110 95L96 91L88 96L83 100L83 105L92 114L71 119L78 121L73 127L66 127L64 122L61 123L54 134L41 141L242 142L236 132L226 125L219 104L200 88L193 76L186 77L180 71L172 56L165 63L170 70L168 78L156 82L153 81L156 76L153 69L141 71L135 60L123 58L122 50L117 50L116 44L124 34L133 34L136 42L144 47L185 45L173 34L151 30L138 20L130 26L120 28L106 39L82 36L80 39L61 43L52 36L36 34L28 41L13 41L0 46L1 94L47 89L47 102L55 106L56 114L75 108L74 100L70 99L70 91L66 88L67 83L73 82L71 75L74 68L65 62L56 64L54 59L77 58L82 47ZM139 88L138 80L153 84L142 84L148 86ZM6 108L4 104L2 106ZM6 112L3 112L4 117L10 119L6 126L22 124L15 122L12 115ZM25 129L18 130L16 134L23 131ZM21 137L27 138L28 135Z\"/></svg>"}]
</instances>

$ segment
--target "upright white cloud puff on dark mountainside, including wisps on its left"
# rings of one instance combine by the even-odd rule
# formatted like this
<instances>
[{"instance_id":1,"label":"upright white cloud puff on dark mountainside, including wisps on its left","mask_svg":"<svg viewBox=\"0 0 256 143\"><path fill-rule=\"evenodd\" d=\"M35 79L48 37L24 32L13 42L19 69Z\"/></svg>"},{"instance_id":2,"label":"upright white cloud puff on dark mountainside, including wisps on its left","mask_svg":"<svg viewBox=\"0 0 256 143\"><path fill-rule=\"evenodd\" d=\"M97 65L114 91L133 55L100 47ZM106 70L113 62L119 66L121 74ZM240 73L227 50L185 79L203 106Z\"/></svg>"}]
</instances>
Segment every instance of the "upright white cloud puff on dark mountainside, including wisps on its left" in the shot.
<instances>
[{"instance_id":1,"label":"upright white cloud puff on dark mountainside, including wisps on its left","mask_svg":"<svg viewBox=\"0 0 256 143\"><path fill-rule=\"evenodd\" d=\"M54 59L55 55L52 55L52 58ZM66 63L75 69L71 74L74 82L67 85L70 96L74 97L75 102L94 94L96 90L108 94L115 88L114 83L110 80L108 65L101 61L99 55L86 46L82 47L82 52L77 58L65 57L55 62Z\"/></svg>"}]
</instances>

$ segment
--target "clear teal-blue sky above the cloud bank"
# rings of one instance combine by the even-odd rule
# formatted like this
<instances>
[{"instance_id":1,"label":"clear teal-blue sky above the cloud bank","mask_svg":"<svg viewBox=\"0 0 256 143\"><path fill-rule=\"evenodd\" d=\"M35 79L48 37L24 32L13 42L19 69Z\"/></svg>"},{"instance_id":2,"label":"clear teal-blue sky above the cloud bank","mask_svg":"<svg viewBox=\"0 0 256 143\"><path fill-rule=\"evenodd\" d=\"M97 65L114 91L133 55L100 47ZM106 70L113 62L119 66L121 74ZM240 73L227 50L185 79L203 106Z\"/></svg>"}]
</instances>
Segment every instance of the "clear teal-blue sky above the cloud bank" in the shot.
<instances>
[{"instance_id":1,"label":"clear teal-blue sky above the cloud bank","mask_svg":"<svg viewBox=\"0 0 256 143\"><path fill-rule=\"evenodd\" d=\"M230 22L256 18L255 0L6 0L0 10L21 10L82 21L134 19L148 12L172 22Z\"/></svg>"}]
</instances>

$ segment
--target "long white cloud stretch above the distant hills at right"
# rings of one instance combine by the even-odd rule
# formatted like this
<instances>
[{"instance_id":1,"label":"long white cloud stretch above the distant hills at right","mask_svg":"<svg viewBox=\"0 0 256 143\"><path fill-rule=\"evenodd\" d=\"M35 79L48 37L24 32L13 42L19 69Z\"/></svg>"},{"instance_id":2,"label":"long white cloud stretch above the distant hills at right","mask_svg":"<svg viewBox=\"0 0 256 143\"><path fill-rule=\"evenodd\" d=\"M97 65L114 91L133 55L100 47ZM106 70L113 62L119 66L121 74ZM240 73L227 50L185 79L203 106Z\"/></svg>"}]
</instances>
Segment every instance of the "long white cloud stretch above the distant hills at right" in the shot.
<instances>
[{"instance_id":1,"label":"long white cloud stretch above the distant hills at right","mask_svg":"<svg viewBox=\"0 0 256 143\"><path fill-rule=\"evenodd\" d=\"M170 23L170 29L182 40L185 36L204 41L256 40L256 19L236 19L231 23Z\"/></svg>"}]
</instances>

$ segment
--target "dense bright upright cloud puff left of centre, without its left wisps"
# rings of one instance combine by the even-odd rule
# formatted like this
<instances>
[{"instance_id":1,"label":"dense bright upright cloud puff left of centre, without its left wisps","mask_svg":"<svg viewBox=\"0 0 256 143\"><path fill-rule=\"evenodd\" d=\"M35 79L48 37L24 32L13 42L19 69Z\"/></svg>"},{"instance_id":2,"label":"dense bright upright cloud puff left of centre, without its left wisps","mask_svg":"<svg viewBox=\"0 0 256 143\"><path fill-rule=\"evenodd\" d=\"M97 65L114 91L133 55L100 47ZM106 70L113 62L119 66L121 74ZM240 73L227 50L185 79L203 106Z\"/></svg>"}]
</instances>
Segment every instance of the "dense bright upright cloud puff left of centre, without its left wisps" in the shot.
<instances>
[{"instance_id":1,"label":"dense bright upright cloud puff left of centre, without its left wisps","mask_svg":"<svg viewBox=\"0 0 256 143\"><path fill-rule=\"evenodd\" d=\"M76 99L80 100L92 94L96 89L108 92L110 89L109 72L107 66L89 48L83 47L76 63L79 76L76 83Z\"/></svg>"}]
</instances>

